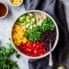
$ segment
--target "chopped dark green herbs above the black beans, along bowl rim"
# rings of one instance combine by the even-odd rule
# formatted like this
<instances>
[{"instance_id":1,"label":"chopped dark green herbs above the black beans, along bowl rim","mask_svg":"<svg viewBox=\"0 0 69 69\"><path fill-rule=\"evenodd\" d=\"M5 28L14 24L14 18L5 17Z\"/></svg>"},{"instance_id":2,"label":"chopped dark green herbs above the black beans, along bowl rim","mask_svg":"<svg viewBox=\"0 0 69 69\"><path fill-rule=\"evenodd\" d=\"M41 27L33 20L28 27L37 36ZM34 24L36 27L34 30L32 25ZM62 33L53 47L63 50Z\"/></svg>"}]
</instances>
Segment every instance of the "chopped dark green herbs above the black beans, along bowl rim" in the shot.
<instances>
[{"instance_id":1,"label":"chopped dark green herbs above the black beans, along bowl rim","mask_svg":"<svg viewBox=\"0 0 69 69\"><path fill-rule=\"evenodd\" d=\"M47 30L54 30L54 29L55 29L55 25L53 21L49 17L44 19L44 21L41 24L41 31L45 32Z\"/></svg>"}]
</instances>

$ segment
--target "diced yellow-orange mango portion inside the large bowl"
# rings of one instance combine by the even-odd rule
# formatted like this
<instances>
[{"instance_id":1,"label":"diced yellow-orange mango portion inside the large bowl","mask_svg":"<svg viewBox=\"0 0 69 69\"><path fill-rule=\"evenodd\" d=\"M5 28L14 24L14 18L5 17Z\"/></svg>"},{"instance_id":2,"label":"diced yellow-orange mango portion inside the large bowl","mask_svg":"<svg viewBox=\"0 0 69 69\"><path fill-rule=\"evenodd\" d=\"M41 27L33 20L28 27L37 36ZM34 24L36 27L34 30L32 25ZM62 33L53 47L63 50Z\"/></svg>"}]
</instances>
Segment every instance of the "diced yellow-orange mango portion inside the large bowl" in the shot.
<instances>
[{"instance_id":1,"label":"diced yellow-orange mango portion inside the large bowl","mask_svg":"<svg viewBox=\"0 0 69 69\"><path fill-rule=\"evenodd\" d=\"M14 43L19 46L19 44L21 42L26 43L27 39L25 38L25 32L26 32L26 28L25 27L21 27L19 25L15 25L14 29L13 29L13 34L12 34L12 38L14 40Z\"/></svg>"}]
</instances>

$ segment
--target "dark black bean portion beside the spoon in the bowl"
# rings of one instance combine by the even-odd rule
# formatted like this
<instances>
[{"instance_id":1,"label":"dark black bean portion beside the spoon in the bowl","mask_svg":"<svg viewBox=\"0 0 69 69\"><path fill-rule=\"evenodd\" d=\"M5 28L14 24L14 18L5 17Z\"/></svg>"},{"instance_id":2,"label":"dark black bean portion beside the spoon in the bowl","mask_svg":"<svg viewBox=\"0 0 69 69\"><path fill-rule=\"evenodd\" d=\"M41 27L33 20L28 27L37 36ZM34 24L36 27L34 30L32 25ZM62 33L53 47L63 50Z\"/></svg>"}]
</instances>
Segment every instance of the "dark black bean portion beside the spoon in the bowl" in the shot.
<instances>
[{"instance_id":1,"label":"dark black bean portion beside the spoon in the bowl","mask_svg":"<svg viewBox=\"0 0 69 69\"><path fill-rule=\"evenodd\" d=\"M49 50L49 40L51 40L53 46L55 38L56 38L56 30L53 31L48 30L42 34L41 41L45 43L45 48Z\"/></svg>"}]
</instances>

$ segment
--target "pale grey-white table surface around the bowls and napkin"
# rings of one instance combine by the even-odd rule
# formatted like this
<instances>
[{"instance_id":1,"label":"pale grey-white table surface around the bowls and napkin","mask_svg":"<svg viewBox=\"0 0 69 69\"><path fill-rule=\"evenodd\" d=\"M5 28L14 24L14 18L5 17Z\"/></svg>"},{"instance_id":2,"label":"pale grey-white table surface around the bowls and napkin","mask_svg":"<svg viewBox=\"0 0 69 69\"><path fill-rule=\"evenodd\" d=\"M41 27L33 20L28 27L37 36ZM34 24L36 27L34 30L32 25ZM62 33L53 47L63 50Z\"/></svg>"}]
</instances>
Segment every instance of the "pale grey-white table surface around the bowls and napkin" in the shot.
<instances>
[{"instance_id":1,"label":"pale grey-white table surface around the bowls and napkin","mask_svg":"<svg viewBox=\"0 0 69 69\"><path fill-rule=\"evenodd\" d=\"M6 43L9 42L10 31L13 25L13 22L17 18L18 15L25 12L24 6L13 7L9 4L8 0L0 0L5 2L9 7L8 16L4 19L0 19L0 39L2 39L2 44L6 46ZM65 4L66 18L69 26L69 0L62 0ZM29 69L28 67L28 59L26 57L21 56L21 58L17 59L14 55L11 57L12 60L17 61L20 69Z\"/></svg>"}]
</instances>

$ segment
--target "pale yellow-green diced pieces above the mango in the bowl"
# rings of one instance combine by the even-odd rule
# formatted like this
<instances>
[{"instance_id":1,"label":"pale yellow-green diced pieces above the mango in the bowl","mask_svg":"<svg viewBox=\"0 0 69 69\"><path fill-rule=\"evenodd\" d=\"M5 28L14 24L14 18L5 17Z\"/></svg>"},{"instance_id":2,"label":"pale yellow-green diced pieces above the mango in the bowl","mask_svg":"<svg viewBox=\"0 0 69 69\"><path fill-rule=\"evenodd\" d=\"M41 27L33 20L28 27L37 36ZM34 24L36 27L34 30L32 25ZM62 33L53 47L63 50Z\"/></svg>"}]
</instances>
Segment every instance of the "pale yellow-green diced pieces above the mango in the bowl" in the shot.
<instances>
[{"instance_id":1,"label":"pale yellow-green diced pieces above the mango in the bowl","mask_svg":"<svg viewBox=\"0 0 69 69\"><path fill-rule=\"evenodd\" d=\"M21 26L26 26L27 24L30 24L30 25L35 24L36 19L32 13L28 13L19 17L17 22Z\"/></svg>"}]
</instances>

